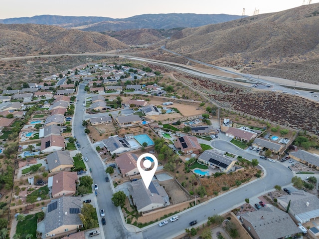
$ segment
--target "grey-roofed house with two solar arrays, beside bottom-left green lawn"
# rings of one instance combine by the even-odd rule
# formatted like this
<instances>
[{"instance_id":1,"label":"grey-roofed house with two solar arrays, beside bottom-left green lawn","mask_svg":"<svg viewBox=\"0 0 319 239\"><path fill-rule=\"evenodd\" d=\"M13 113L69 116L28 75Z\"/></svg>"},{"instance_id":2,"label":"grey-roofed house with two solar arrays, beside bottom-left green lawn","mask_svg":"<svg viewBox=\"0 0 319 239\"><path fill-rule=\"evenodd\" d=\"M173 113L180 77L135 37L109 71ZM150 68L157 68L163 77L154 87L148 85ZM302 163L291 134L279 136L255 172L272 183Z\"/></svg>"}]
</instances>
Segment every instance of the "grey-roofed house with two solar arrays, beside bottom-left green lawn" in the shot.
<instances>
[{"instance_id":1,"label":"grey-roofed house with two solar arrays, beside bottom-left green lawn","mask_svg":"<svg viewBox=\"0 0 319 239\"><path fill-rule=\"evenodd\" d=\"M54 199L47 205L44 223L46 238L74 233L82 228L81 213L82 201L80 197L61 197ZM39 227L37 230L40 231Z\"/></svg>"}]
</instances>

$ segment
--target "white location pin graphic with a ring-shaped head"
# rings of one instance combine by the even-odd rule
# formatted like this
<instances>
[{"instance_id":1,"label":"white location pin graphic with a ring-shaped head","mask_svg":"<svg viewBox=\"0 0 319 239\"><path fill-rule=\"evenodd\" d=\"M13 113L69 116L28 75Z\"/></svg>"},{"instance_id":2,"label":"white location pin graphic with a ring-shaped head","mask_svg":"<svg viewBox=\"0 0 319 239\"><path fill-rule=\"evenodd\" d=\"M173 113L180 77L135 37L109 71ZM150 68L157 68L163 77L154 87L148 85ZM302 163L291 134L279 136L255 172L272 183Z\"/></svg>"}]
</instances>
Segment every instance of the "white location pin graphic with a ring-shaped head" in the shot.
<instances>
[{"instance_id":1,"label":"white location pin graphic with a ring-shaped head","mask_svg":"<svg viewBox=\"0 0 319 239\"><path fill-rule=\"evenodd\" d=\"M149 160L147 157L153 159L154 161L154 167L152 170L149 170L149 171L145 171L144 169L142 169L141 167L141 160L142 159L146 159L144 162L143 162L143 166L145 168L150 168L152 166L152 161ZM153 154L149 154L149 153L146 153L146 154L142 154L139 158L138 158L138 161L137 161L137 166L138 166L138 170L142 176L142 180L143 180L143 183L146 187L146 189L149 189L149 186L152 182L152 179L153 179L153 176L158 168L158 165L159 165L159 162L158 162L158 159L153 155Z\"/></svg>"}]
</instances>

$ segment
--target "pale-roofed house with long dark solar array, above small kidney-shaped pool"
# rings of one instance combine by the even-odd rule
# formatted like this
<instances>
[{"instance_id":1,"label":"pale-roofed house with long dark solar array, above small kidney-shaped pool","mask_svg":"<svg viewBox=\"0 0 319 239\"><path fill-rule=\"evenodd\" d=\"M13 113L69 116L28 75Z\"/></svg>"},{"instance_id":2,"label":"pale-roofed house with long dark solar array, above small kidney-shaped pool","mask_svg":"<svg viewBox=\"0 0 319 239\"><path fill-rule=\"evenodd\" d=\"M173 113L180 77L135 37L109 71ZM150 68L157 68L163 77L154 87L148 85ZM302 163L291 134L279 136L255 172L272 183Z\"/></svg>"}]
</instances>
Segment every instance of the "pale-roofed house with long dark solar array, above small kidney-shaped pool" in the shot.
<instances>
[{"instance_id":1,"label":"pale-roofed house with long dark solar array, above small kidney-shaped pool","mask_svg":"<svg viewBox=\"0 0 319 239\"><path fill-rule=\"evenodd\" d=\"M219 154L213 150L205 150L198 158L197 161L206 164L213 169L219 169L223 173L233 171L236 159L228 157L227 155Z\"/></svg>"}]
</instances>

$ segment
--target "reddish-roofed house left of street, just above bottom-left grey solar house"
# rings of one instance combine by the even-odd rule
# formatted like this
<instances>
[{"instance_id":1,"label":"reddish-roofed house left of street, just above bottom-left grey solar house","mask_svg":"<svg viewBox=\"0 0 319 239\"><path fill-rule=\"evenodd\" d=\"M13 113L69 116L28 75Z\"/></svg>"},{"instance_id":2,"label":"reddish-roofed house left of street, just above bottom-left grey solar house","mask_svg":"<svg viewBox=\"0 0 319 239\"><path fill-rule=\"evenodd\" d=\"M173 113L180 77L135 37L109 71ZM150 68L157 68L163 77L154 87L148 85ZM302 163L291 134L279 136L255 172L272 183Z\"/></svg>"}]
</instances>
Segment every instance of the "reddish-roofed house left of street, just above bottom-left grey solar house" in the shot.
<instances>
[{"instance_id":1,"label":"reddish-roofed house left of street, just above bottom-left grey solar house","mask_svg":"<svg viewBox=\"0 0 319 239\"><path fill-rule=\"evenodd\" d=\"M72 196L76 192L78 175L76 172L62 171L49 177L48 188L52 198Z\"/></svg>"}]
</instances>

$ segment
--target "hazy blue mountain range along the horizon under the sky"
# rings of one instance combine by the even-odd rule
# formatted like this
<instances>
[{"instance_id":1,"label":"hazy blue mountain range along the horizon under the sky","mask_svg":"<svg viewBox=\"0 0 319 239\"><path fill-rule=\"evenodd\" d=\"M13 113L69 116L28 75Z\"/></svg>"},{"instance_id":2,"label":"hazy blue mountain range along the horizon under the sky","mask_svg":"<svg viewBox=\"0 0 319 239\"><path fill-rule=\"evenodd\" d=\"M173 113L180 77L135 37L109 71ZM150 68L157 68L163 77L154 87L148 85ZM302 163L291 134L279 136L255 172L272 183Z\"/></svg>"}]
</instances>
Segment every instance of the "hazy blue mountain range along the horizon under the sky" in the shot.
<instances>
[{"instance_id":1,"label":"hazy blue mountain range along the horizon under the sky","mask_svg":"<svg viewBox=\"0 0 319 239\"><path fill-rule=\"evenodd\" d=\"M56 16L40 15L32 17L7 18L3 24L46 24L65 28L74 27L86 31L120 31L125 29L169 29L175 27L197 27L207 24L238 19L242 16L228 14L168 13L143 14L128 18L110 18L95 16Z\"/></svg>"}]
</instances>

